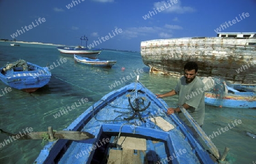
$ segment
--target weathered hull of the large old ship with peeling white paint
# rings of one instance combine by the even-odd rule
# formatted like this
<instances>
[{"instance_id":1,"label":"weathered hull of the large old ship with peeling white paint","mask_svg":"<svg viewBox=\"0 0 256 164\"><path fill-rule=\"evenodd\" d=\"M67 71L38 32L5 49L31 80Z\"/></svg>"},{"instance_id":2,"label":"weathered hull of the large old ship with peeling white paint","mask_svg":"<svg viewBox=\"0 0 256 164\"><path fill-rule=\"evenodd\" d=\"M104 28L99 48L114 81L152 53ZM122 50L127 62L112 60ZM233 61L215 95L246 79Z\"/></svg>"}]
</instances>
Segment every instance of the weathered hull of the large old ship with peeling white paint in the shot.
<instances>
[{"instance_id":1,"label":"weathered hull of the large old ship with peeling white paint","mask_svg":"<svg viewBox=\"0 0 256 164\"><path fill-rule=\"evenodd\" d=\"M228 36L228 35L226 35ZM199 76L234 83L256 83L256 37L187 37L141 42L141 56L151 72L183 75L187 61Z\"/></svg>"}]
</instances>

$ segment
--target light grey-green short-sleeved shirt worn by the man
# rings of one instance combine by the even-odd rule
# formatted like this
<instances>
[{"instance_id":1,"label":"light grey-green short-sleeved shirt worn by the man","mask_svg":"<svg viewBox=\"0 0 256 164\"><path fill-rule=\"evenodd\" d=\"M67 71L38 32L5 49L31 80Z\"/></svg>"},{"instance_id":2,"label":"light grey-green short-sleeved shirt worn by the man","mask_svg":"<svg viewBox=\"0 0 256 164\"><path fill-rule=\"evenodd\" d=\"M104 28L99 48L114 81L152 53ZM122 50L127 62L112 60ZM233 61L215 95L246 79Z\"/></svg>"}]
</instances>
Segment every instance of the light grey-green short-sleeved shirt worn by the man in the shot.
<instances>
[{"instance_id":1,"label":"light grey-green short-sleeved shirt worn by the man","mask_svg":"<svg viewBox=\"0 0 256 164\"><path fill-rule=\"evenodd\" d=\"M188 104L190 107L187 111L200 126L204 124L205 114L205 91L203 88L204 83L199 77L196 76L191 83L186 83L186 78L183 76L174 89L175 92L179 94L179 106L182 106L184 103ZM183 113L179 113L179 117L185 124L192 127Z\"/></svg>"}]
</instances>

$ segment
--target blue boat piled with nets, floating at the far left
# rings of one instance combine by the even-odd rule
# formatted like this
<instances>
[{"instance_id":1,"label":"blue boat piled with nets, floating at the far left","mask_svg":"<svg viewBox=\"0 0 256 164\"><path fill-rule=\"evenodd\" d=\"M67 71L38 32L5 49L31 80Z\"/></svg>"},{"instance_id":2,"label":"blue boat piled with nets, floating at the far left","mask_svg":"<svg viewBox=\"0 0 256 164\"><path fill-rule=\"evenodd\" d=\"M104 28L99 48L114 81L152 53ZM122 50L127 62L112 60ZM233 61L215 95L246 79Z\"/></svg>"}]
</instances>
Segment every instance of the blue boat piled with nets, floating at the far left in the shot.
<instances>
[{"instance_id":1,"label":"blue boat piled with nets, floating at the far left","mask_svg":"<svg viewBox=\"0 0 256 164\"><path fill-rule=\"evenodd\" d=\"M6 85L25 92L34 92L47 85L51 72L25 60L18 60L0 68L0 79Z\"/></svg>"}]
</instances>

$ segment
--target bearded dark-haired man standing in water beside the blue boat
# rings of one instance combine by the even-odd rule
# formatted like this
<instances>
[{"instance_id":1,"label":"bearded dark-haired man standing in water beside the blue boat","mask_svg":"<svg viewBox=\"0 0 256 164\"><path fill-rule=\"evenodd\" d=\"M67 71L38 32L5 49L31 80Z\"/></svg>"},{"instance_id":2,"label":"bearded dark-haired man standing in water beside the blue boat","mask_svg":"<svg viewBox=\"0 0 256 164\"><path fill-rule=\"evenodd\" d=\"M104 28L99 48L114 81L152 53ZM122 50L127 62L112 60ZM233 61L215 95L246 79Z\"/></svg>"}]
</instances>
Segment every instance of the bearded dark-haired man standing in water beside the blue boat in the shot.
<instances>
[{"instance_id":1,"label":"bearded dark-haired man standing in water beside the blue boat","mask_svg":"<svg viewBox=\"0 0 256 164\"><path fill-rule=\"evenodd\" d=\"M165 94L156 94L157 98L163 98L167 96L173 96L179 94L179 106L183 106L189 114L193 117L193 119L200 125L200 127L204 124L204 83L201 81L199 77L197 77L197 69L198 66L196 62L187 62L184 66L184 76L179 79L174 90L166 92ZM189 123L187 118L181 112L180 107L176 108L168 108L167 114L171 115L172 113L179 113L179 117L181 120L191 128L194 136L199 137L196 133L195 129Z\"/></svg>"}]
</instances>

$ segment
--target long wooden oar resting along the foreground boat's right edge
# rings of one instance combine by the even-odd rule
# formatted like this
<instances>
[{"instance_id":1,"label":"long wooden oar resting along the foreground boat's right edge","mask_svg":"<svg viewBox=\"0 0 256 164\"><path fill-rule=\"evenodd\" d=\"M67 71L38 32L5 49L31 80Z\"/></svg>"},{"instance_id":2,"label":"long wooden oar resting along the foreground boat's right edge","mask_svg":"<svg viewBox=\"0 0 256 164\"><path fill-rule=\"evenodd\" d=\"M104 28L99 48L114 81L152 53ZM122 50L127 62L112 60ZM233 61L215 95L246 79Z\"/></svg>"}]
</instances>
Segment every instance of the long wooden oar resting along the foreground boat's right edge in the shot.
<instances>
[{"instance_id":1,"label":"long wooden oar resting along the foreground boat's right edge","mask_svg":"<svg viewBox=\"0 0 256 164\"><path fill-rule=\"evenodd\" d=\"M203 141L205 142L205 144L207 144L208 148L210 149L210 151L213 153L213 155L215 155L215 157L217 159L220 158L220 154L218 153L218 149L217 147L213 144L212 141L210 141L209 137L207 136L207 134L205 134L205 132L203 131L203 129L196 123L196 121L191 117L191 115L189 115L189 113L187 112L187 110L185 110L185 108L183 106L180 106L180 110L181 112L183 112L183 114L185 115L185 117L187 117L189 123L191 123L191 125L193 126L193 128L195 128L196 132L199 134L199 136L203 139Z\"/></svg>"}]
</instances>

